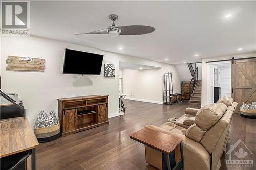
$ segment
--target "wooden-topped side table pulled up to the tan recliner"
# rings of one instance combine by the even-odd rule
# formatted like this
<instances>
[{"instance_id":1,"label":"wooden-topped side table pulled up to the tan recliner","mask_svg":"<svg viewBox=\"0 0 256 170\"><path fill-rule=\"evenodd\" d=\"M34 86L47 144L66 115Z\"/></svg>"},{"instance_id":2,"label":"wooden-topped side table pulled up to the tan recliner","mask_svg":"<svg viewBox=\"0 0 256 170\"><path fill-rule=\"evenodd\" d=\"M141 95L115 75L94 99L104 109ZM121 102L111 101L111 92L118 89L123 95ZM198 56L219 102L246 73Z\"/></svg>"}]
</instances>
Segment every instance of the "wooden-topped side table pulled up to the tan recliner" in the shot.
<instances>
[{"instance_id":1,"label":"wooden-topped side table pulled up to the tan recliner","mask_svg":"<svg viewBox=\"0 0 256 170\"><path fill-rule=\"evenodd\" d=\"M162 153L162 169L183 169L183 155L181 147L181 139L172 135L167 135L149 128L143 128L130 135L145 147L153 148ZM175 150L179 149L179 160L175 155Z\"/></svg>"}]
</instances>

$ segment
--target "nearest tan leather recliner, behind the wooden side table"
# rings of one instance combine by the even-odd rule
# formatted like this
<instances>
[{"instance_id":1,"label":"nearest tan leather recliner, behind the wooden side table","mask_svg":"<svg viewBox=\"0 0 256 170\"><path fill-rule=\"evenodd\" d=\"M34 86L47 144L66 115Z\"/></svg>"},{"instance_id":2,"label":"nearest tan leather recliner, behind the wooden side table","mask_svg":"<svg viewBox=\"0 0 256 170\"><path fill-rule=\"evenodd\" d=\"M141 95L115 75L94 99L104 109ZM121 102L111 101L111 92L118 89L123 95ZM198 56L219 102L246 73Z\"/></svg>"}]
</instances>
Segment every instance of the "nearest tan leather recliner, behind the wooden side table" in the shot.
<instances>
[{"instance_id":1,"label":"nearest tan leather recliner, behind the wooden side table","mask_svg":"<svg viewBox=\"0 0 256 170\"><path fill-rule=\"evenodd\" d=\"M234 107L223 103L206 105L195 115L195 123L187 128L166 122L157 127L147 128L173 135L182 139L184 169L219 169L220 158L228 141ZM162 154L150 147L145 147L146 162L162 169Z\"/></svg>"}]
</instances>

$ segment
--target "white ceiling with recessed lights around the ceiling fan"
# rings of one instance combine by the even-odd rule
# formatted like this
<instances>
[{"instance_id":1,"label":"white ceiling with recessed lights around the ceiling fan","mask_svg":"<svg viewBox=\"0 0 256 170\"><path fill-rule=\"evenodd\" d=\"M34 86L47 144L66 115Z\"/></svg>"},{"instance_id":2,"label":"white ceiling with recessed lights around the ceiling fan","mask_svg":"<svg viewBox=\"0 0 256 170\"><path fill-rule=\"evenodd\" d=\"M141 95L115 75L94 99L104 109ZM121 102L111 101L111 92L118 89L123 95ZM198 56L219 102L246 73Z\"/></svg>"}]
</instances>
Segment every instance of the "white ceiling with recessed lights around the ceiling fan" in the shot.
<instances>
[{"instance_id":1,"label":"white ceiling with recessed lights around the ceiling fan","mask_svg":"<svg viewBox=\"0 0 256 170\"><path fill-rule=\"evenodd\" d=\"M31 1L30 6L32 35L159 62L256 51L256 1ZM148 25L156 31L74 35L107 28L112 13L119 17L117 26ZM225 18L227 14L232 16Z\"/></svg>"}]
</instances>

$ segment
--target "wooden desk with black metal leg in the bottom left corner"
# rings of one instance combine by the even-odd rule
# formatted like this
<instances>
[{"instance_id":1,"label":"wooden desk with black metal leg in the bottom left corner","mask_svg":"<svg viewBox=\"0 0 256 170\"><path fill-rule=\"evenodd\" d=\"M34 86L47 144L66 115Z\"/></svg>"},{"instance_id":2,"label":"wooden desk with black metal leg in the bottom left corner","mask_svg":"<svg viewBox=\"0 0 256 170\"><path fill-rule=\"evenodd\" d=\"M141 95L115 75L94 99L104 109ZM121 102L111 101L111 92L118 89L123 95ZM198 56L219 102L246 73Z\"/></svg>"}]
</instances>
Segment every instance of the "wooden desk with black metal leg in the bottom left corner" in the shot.
<instances>
[{"instance_id":1,"label":"wooden desk with black metal leg in the bottom left corner","mask_svg":"<svg viewBox=\"0 0 256 170\"><path fill-rule=\"evenodd\" d=\"M35 169L35 147L39 143L26 117L1 120L0 138L0 158L30 150L32 169Z\"/></svg>"}]
</instances>

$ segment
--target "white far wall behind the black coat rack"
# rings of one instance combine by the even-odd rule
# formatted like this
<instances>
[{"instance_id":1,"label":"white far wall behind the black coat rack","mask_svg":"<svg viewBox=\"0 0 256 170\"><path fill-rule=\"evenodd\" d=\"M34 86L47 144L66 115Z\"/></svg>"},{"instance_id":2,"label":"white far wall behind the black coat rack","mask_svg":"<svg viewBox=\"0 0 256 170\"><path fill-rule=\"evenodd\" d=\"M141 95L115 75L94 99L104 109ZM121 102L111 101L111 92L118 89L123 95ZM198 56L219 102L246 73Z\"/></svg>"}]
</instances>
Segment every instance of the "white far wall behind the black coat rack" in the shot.
<instances>
[{"instance_id":1,"label":"white far wall behind the black coat rack","mask_svg":"<svg viewBox=\"0 0 256 170\"><path fill-rule=\"evenodd\" d=\"M123 93L127 99L162 104L163 74L172 72L174 93L180 93L180 77L174 65L161 64L161 69L123 69Z\"/></svg>"}]
</instances>

